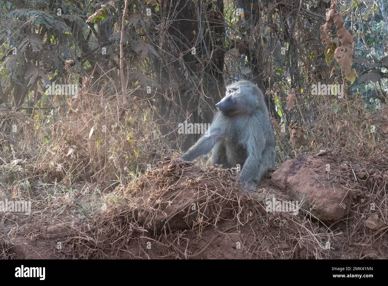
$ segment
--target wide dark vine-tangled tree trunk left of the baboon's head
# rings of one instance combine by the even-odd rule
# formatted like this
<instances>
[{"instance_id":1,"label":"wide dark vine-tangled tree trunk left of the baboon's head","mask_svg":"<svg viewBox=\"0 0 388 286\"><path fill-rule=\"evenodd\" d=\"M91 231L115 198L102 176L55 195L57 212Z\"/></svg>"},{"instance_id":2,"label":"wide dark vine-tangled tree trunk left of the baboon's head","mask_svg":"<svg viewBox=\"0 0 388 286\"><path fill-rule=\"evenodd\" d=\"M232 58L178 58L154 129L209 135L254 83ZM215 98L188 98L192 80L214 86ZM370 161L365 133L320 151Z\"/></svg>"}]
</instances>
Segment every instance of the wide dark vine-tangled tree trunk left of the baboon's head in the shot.
<instances>
[{"instance_id":1,"label":"wide dark vine-tangled tree trunk left of the baboon's head","mask_svg":"<svg viewBox=\"0 0 388 286\"><path fill-rule=\"evenodd\" d=\"M162 1L159 11L159 15L169 16L159 22L166 23L167 34L159 36L157 66L164 96L159 96L156 108L161 116L161 133L168 135L166 140L173 142L173 148L183 151L201 134L184 134L181 141L173 130L187 117L190 123L211 123L215 103L225 93L224 52L218 48L225 39L223 1L215 2L216 9L204 3ZM204 13L208 16L207 23L201 21ZM209 22L211 25L205 26Z\"/></svg>"}]
</instances>

